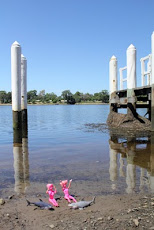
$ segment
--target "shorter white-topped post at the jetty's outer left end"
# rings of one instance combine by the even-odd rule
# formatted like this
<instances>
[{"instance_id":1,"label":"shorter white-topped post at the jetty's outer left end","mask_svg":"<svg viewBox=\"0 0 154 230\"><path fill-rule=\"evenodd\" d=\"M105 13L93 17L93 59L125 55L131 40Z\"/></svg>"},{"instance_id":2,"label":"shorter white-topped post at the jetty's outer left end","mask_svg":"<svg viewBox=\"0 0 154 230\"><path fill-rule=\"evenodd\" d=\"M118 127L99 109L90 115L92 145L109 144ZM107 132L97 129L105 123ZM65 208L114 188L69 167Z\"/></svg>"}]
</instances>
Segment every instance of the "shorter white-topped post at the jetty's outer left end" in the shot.
<instances>
[{"instance_id":1,"label":"shorter white-topped post at the jetty's outer left end","mask_svg":"<svg viewBox=\"0 0 154 230\"><path fill-rule=\"evenodd\" d=\"M110 78L110 111L117 112L118 96L116 91L118 89L117 81L117 58L112 56L109 63L109 78Z\"/></svg>"}]
</instances>

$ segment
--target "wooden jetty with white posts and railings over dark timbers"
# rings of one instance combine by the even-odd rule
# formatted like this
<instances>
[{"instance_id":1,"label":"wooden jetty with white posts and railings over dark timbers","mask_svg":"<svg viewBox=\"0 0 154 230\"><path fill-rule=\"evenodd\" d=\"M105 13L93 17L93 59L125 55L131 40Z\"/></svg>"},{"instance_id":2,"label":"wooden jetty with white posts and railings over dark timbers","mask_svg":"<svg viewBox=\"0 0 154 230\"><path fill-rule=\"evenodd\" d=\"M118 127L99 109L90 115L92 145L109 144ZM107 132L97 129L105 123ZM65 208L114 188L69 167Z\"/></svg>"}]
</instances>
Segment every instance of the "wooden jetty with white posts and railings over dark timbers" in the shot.
<instances>
[{"instance_id":1,"label":"wooden jetty with white posts and railings over dark timbers","mask_svg":"<svg viewBox=\"0 0 154 230\"><path fill-rule=\"evenodd\" d=\"M118 90L117 58L112 56L109 63L110 77L110 112L118 113L121 108L127 109L128 116L137 114L137 108L146 108L151 121L151 131L154 132L154 32L151 36L151 54L140 59L141 86L136 84L136 48L130 45L126 52L127 65L119 69L120 89ZM123 72L127 77L123 78ZM123 83L127 82L127 88Z\"/></svg>"}]
</instances>

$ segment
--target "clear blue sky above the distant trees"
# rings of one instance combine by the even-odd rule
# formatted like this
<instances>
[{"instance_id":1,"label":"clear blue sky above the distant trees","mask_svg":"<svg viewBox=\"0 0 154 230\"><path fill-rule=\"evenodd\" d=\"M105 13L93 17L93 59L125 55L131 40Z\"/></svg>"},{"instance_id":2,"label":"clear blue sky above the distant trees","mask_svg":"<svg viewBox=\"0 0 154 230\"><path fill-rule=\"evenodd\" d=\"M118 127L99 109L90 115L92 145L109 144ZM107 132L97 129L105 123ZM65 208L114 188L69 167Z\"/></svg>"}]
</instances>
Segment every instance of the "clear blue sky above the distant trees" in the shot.
<instances>
[{"instance_id":1,"label":"clear blue sky above the distant trees","mask_svg":"<svg viewBox=\"0 0 154 230\"><path fill-rule=\"evenodd\" d=\"M141 86L140 58L151 53L153 31L154 0L0 0L0 90L11 91L14 41L27 58L28 91L109 90L109 60L126 66L130 44Z\"/></svg>"}]
</instances>

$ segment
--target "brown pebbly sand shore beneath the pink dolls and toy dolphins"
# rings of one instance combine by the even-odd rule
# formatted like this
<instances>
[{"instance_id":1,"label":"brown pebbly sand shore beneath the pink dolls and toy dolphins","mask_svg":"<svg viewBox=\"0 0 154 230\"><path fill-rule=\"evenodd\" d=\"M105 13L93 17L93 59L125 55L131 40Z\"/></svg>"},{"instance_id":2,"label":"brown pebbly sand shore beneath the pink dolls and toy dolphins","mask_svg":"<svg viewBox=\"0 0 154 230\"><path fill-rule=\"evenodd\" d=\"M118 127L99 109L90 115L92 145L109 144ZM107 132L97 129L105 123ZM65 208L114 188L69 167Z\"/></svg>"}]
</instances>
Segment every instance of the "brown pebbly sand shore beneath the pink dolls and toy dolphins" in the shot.
<instances>
[{"instance_id":1,"label":"brown pebbly sand shore beneath the pink dolls and toy dolphins","mask_svg":"<svg viewBox=\"0 0 154 230\"><path fill-rule=\"evenodd\" d=\"M38 201L47 197L14 195L0 205L0 229L154 229L154 196L143 194L97 196L84 210L72 210L62 197L54 211L27 206L26 198ZM81 197L77 197L80 200ZM85 197L90 200L92 197Z\"/></svg>"}]
</instances>

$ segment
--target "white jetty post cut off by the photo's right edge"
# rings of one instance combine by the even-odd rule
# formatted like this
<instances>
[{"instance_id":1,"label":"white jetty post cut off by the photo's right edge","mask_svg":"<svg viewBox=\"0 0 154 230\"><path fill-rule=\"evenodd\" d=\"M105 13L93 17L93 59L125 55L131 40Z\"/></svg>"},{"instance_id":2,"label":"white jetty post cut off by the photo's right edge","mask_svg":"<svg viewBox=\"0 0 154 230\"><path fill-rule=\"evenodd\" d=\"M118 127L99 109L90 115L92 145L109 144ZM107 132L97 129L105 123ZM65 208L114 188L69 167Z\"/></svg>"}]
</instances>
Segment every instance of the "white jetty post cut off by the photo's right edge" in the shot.
<instances>
[{"instance_id":1,"label":"white jetty post cut off by the photo's right edge","mask_svg":"<svg viewBox=\"0 0 154 230\"><path fill-rule=\"evenodd\" d=\"M154 32L151 36L151 131L154 132Z\"/></svg>"}]
</instances>

